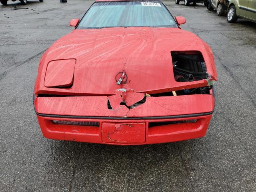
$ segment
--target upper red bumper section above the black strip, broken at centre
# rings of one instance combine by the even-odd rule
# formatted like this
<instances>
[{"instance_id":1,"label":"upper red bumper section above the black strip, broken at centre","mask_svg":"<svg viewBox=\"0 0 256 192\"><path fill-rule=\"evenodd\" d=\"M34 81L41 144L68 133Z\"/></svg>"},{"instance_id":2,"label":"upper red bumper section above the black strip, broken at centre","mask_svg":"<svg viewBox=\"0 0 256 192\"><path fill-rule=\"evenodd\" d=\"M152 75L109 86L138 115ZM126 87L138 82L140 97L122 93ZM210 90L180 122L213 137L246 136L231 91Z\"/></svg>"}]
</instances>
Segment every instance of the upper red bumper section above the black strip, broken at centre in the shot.
<instances>
[{"instance_id":1,"label":"upper red bumper section above the black strip, broken at centre","mask_svg":"<svg viewBox=\"0 0 256 192\"><path fill-rule=\"evenodd\" d=\"M107 99L107 96L38 97L34 103L40 114L68 116L154 117L214 110L212 95L148 97L145 103L135 108L128 109L124 105L118 105L113 110L108 109Z\"/></svg>"}]
</instances>

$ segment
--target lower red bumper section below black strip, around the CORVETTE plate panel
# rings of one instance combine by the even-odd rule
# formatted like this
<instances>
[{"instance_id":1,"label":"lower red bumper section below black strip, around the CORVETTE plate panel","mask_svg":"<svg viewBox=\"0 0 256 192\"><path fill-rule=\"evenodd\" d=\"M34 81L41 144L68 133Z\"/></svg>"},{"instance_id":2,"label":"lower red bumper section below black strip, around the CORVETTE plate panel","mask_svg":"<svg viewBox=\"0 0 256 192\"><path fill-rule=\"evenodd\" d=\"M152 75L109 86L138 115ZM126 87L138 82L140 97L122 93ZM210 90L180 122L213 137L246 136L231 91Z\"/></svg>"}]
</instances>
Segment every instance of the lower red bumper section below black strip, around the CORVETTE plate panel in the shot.
<instances>
[{"instance_id":1,"label":"lower red bumper section below black strip, around the CORVETTE plate panel","mask_svg":"<svg viewBox=\"0 0 256 192\"><path fill-rule=\"evenodd\" d=\"M77 142L90 142L113 145L138 145L138 144L154 144L165 142L176 142L203 137L206 134L212 115L199 116L195 123L171 124L168 126L156 126L148 128L150 120L97 120L100 122L100 127L90 126L67 126L56 125L51 120L74 120L74 121L95 121L92 119L66 119L66 118L48 118L38 117L38 122L44 137L56 140L70 140ZM181 119L166 119L164 121L186 120ZM190 118L191 119L191 118ZM163 120L154 120L159 122ZM143 143L122 143L122 142L104 142L102 141L101 125L103 122L110 123L146 123L146 140ZM152 122L152 120L151 120Z\"/></svg>"}]
</instances>

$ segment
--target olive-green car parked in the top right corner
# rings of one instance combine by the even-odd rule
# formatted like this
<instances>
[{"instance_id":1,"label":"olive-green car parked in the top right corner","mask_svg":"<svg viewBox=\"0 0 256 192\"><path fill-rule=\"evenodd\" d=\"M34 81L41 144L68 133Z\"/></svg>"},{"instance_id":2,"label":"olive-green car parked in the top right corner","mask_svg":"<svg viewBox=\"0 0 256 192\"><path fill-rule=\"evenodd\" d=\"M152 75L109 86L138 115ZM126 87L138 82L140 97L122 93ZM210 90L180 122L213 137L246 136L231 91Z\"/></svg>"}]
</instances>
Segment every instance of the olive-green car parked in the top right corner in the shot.
<instances>
[{"instance_id":1,"label":"olive-green car parked in the top right corner","mask_svg":"<svg viewBox=\"0 0 256 192\"><path fill-rule=\"evenodd\" d=\"M256 0L230 0L227 20L234 23L238 18L256 22Z\"/></svg>"}]
</instances>

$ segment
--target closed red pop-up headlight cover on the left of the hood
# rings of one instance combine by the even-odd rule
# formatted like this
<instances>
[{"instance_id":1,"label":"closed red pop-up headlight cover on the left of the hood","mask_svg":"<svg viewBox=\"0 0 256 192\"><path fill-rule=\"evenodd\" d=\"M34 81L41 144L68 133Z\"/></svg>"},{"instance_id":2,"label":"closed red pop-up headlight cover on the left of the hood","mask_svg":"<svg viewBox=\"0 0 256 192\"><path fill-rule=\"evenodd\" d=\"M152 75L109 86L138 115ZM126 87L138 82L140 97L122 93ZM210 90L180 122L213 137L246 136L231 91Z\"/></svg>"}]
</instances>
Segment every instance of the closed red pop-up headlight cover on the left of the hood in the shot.
<instances>
[{"instance_id":1,"label":"closed red pop-up headlight cover on the left of the hood","mask_svg":"<svg viewBox=\"0 0 256 192\"><path fill-rule=\"evenodd\" d=\"M70 86L73 83L76 60L56 60L48 63L44 86Z\"/></svg>"}]
</instances>

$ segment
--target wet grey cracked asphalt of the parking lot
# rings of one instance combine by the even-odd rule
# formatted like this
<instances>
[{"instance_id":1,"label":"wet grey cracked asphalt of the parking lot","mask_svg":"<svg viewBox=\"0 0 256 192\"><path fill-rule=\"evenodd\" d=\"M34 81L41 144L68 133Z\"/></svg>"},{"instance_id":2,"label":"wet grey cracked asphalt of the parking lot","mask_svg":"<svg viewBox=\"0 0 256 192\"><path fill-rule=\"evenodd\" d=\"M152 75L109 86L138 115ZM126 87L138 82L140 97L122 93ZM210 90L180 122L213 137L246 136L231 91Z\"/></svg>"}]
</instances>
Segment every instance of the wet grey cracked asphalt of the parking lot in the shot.
<instances>
[{"instance_id":1,"label":"wet grey cracked asphalt of the parking lot","mask_svg":"<svg viewBox=\"0 0 256 192\"><path fill-rule=\"evenodd\" d=\"M92 2L0 5L0 191L256 191L256 24L230 24L203 4L164 1L215 57L216 108L204 138L108 146L42 136L32 104L40 57Z\"/></svg>"}]
</instances>

